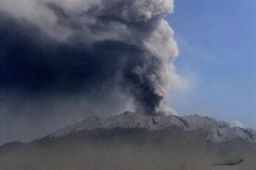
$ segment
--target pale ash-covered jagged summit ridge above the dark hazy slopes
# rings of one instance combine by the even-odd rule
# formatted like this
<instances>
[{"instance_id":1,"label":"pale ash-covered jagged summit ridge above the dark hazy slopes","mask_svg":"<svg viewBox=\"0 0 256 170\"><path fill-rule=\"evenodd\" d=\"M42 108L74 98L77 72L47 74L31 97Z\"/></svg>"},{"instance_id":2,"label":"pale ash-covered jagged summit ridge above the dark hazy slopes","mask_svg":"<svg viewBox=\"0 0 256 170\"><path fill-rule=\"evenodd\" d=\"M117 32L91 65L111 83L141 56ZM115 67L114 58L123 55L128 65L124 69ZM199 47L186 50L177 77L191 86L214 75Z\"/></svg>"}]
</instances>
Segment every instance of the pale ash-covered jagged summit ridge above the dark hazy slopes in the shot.
<instances>
[{"instance_id":1,"label":"pale ash-covered jagged summit ridge above the dark hazy slopes","mask_svg":"<svg viewBox=\"0 0 256 170\"><path fill-rule=\"evenodd\" d=\"M166 130L171 127L177 127L187 132L198 131L205 133L205 139L215 143L228 142L232 139L241 138L249 143L256 141L256 132L254 130L243 129L241 127L231 127L228 122L215 120L208 116L145 116L134 112L124 112L118 116L90 116L86 120L75 125L70 125L64 129L48 135L49 138L58 138L83 130L106 129L146 129L152 132Z\"/></svg>"}]
</instances>

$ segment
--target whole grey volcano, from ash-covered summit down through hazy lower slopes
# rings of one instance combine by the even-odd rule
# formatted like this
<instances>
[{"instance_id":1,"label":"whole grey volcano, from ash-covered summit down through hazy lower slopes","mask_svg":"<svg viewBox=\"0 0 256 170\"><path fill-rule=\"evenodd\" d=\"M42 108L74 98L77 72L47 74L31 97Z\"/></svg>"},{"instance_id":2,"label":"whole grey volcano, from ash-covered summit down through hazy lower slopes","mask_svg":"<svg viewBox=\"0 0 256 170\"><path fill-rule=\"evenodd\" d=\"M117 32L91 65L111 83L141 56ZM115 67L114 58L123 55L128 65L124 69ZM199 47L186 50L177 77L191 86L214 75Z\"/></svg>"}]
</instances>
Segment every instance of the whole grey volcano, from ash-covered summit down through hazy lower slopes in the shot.
<instances>
[{"instance_id":1,"label":"whole grey volcano, from ash-covered summit down through hazy lower slopes","mask_svg":"<svg viewBox=\"0 0 256 170\"><path fill-rule=\"evenodd\" d=\"M0 169L254 169L256 131L206 116L91 116L0 147Z\"/></svg>"}]
</instances>

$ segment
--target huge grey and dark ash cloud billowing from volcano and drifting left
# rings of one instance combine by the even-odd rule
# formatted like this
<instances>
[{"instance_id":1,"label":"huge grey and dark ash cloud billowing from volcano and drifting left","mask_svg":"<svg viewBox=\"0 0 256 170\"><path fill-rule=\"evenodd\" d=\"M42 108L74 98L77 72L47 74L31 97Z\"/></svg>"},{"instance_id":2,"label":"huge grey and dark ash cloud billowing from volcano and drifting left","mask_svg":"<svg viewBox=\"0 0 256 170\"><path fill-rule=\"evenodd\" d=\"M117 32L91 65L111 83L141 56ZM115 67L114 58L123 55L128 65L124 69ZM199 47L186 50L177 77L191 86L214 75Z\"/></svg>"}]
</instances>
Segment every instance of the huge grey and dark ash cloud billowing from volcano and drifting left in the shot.
<instances>
[{"instance_id":1,"label":"huge grey and dark ash cloud billowing from volcano and drifting left","mask_svg":"<svg viewBox=\"0 0 256 170\"><path fill-rule=\"evenodd\" d=\"M0 135L26 139L86 112L174 114L172 11L172 0L0 0Z\"/></svg>"}]
</instances>

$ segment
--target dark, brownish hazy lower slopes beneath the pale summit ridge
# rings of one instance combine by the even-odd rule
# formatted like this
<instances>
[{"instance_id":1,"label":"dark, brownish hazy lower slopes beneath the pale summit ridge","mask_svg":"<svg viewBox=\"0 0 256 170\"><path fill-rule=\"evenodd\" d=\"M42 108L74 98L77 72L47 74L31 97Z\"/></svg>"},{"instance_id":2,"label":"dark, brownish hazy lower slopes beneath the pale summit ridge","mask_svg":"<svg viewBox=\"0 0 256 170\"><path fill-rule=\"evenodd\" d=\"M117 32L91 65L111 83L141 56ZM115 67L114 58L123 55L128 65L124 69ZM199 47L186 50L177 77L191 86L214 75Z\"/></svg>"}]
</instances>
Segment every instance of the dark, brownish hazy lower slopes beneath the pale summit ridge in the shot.
<instances>
[{"instance_id":1,"label":"dark, brownish hazy lower slopes beneath the pale summit ridge","mask_svg":"<svg viewBox=\"0 0 256 170\"><path fill-rule=\"evenodd\" d=\"M216 145L201 137L180 130L84 131L31 144L8 144L0 151L0 169L255 169L254 146L239 139ZM244 162L236 166L213 166L240 158Z\"/></svg>"}]
</instances>

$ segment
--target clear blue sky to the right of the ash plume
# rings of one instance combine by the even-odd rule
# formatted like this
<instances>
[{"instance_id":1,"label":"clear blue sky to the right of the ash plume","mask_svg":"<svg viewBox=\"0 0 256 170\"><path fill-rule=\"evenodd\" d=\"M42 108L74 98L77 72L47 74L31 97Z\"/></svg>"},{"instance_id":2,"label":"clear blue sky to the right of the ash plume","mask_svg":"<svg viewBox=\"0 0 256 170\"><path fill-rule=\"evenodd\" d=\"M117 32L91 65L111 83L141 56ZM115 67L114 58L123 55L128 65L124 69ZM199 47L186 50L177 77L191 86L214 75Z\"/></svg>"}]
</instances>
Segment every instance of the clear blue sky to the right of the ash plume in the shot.
<instances>
[{"instance_id":1,"label":"clear blue sky to the right of the ash plume","mask_svg":"<svg viewBox=\"0 0 256 170\"><path fill-rule=\"evenodd\" d=\"M176 0L167 17L180 49L176 67L190 80L172 94L180 115L240 120L256 128L256 1Z\"/></svg>"}]
</instances>

